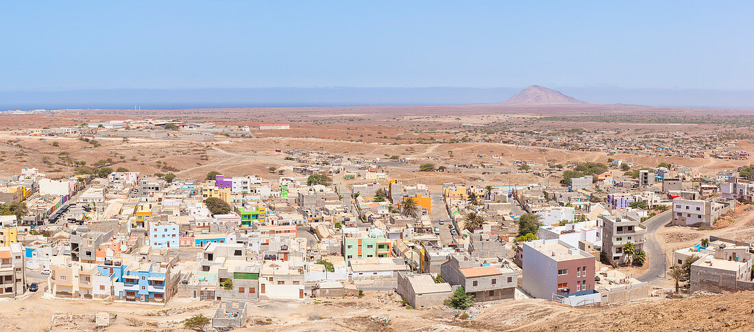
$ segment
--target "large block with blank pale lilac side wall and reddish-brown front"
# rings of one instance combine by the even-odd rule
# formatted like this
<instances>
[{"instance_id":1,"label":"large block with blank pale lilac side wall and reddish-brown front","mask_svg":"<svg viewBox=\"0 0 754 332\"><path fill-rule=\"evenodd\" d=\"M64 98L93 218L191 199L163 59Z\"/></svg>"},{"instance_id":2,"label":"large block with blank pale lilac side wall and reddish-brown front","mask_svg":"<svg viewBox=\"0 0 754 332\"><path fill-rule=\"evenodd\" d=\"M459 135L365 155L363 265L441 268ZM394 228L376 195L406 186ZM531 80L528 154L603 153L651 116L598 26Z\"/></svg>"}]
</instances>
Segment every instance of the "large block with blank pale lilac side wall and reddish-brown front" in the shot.
<instances>
[{"instance_id":1,"label":"large block with blank pale lilac side wall and reddish-brown front","mask_svg":"<svg viewBox=\"0 0 754 332\"><path fill-rule=\"evenodd\" d=\"M596 258L557 239L523 242L523 289L533 297L570 305L599 303Z\"/></svg>"}]
</instances>

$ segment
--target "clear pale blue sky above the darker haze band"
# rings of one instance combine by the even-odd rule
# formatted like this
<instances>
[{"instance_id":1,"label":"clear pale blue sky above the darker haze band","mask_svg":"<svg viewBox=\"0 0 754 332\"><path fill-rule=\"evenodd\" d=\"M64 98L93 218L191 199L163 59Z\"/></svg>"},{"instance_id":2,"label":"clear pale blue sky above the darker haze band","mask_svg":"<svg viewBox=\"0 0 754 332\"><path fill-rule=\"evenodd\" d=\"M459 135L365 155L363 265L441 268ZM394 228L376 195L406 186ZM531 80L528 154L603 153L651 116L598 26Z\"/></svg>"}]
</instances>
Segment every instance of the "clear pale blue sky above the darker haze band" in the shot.
<instances>
[{"instance_id":1,"label":"clear pale blue sky above the darker haze band","mask_svg":"<svg viewBox=\"0 0 754 332\"><path fill-rule=\"evenodd\" d=\"M0 3L0 91L754 89L754 2Z\"/></svg>"}]
</instances>

